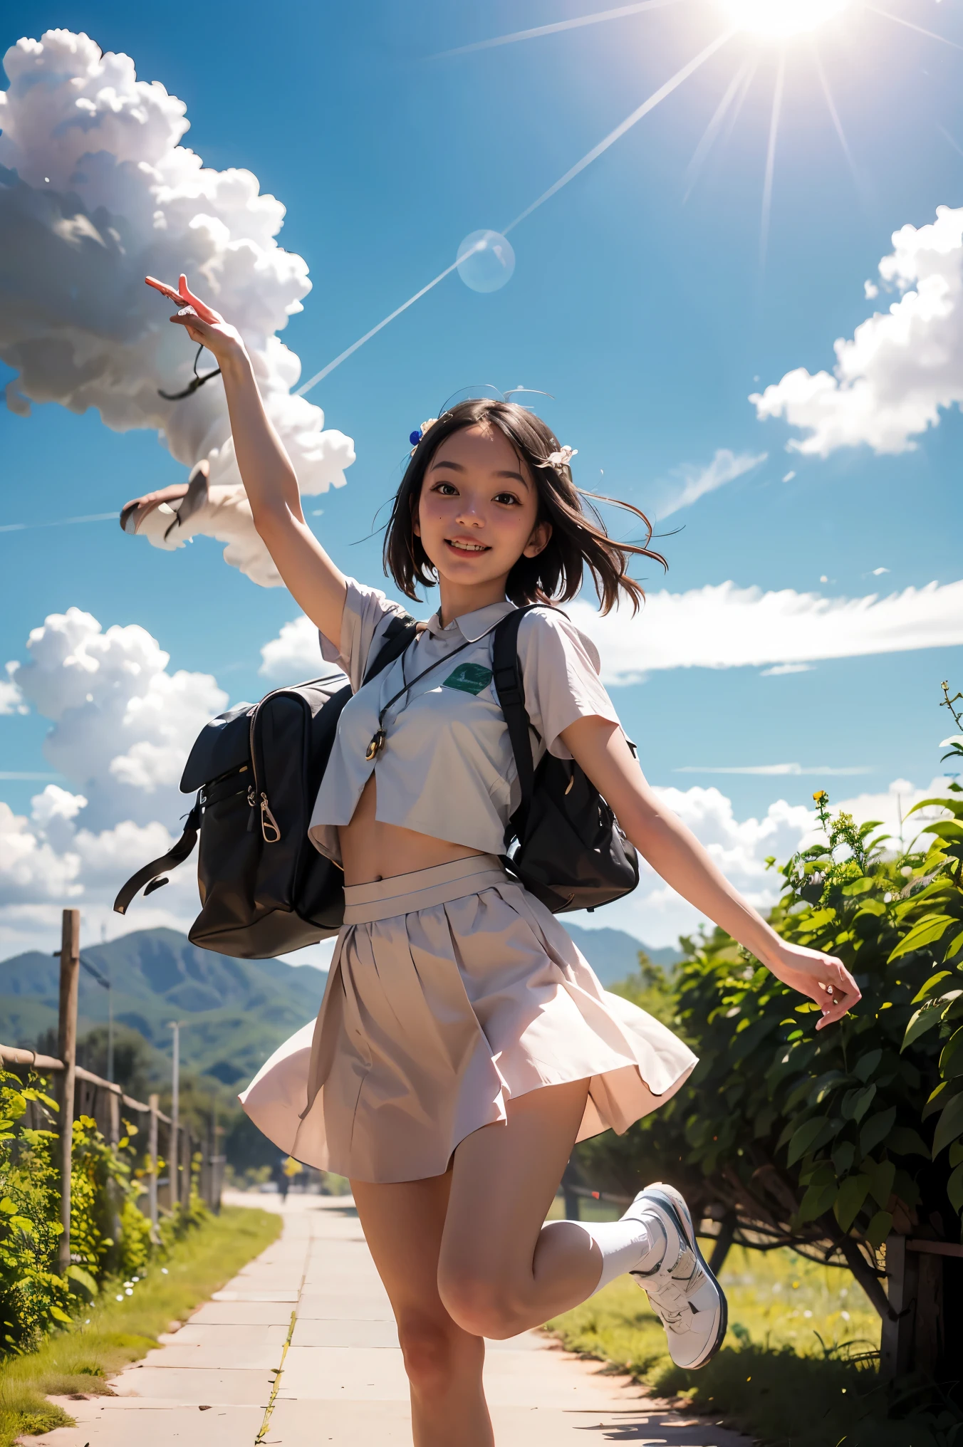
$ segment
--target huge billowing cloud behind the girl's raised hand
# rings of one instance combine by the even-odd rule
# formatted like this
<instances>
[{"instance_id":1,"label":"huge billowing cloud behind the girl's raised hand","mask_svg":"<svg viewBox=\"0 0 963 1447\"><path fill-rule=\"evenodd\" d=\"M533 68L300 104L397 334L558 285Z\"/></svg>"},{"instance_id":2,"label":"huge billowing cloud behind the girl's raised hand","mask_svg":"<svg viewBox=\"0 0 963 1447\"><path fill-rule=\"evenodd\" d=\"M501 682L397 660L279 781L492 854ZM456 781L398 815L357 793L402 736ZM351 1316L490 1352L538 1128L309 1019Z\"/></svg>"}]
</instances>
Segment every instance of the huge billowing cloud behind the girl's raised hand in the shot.
<instances>
[{"instance_id":1,"label":"huge billowing cloud behind the girl's raised hand","mask_svg":"<svg viewBox=\"0 0 963 1447\"><path fill-rule=\"evenodd\" d=\"M177 282L187 272L239 327L301 491L340 486L353 443L291 395L301 363L277 336L311 288L303 258L278 246L284 207L249 171L216 171L180 145L184 103L159 81L139 81L127 55L48 30L13 45L4 68L0 359L17 372L7 405L20 415L30 401L93 407L116 431L156 428L185 469L206 460L206 505L169 538L169 509L142 531L165 548L216 537L229 563L279 585L243 496L220 381L182 401L158 395L187 386L195 349L143 278Z\"/></svg>"}]
</instances>

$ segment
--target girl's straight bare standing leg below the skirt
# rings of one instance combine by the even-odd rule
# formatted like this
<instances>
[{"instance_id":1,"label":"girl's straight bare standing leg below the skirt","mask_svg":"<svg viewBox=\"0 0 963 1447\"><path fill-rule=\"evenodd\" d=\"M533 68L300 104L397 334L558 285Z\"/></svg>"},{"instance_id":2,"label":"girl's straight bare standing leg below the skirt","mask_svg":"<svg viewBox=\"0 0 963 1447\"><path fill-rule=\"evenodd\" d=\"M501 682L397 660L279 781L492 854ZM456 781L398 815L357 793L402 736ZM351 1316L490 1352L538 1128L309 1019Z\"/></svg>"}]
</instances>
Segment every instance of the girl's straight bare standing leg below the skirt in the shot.
<instances>
[{"instance_id":1,"label":"girl's straight bare standing leg below the skirt","mask_svg":"<svg viewBox=\"0 0 963 1447\"><path fill-rule=\"evenodd\" d=\"M482 1392L485 1343L442 1305L439 1249L450 1172L426 1181L352 1181L358 1214L398 1323L414 1447L494 1447Z\"/></svg>"}]
</instances>

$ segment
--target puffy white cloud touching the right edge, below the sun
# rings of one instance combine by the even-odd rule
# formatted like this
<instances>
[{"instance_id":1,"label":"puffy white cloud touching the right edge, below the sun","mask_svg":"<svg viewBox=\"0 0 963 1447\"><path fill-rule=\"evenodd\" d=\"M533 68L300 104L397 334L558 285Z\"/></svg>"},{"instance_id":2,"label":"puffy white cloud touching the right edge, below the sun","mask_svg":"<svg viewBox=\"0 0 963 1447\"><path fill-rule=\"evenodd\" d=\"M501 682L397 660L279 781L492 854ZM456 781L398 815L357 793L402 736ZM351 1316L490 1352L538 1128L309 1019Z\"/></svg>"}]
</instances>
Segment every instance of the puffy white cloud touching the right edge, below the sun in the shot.
<instances>
[{"instance_id":1,"label":"puffy white cloud touching the right edge, below the sun","mask_svg":"<svg viewBox=\"0 0 963 1447\"><path fill-rule=\"evenodd\" d=\"M805 434L795 451L909 451L963 402L963 207L937 207L935 221L904 226L892 245L879 275L899 300L836 341L833 372L796 368L750 396L759 418L785 417ZM866 285L869 300L878 291Z\"/></svg>"}]
</instances>

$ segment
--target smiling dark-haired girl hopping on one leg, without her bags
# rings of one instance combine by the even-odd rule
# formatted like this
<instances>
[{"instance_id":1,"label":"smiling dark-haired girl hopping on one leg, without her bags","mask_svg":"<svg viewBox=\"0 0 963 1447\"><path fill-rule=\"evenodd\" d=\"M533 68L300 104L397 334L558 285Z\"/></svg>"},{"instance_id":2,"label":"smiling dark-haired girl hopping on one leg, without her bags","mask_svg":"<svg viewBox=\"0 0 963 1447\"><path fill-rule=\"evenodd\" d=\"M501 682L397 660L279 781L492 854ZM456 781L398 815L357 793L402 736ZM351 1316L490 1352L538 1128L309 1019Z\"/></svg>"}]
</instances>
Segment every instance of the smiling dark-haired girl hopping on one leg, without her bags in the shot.
<instances>
[{"instance_id":1,"label":"smiling dark-haired girl hopping on one leg, without her bags","mask_svg":"<svg viewBox=\"0 0 963 1447\"><path fill-rule=\"evenodd\" d=\"M639 852L782 981L818 1027L859 990L838 959L789 945L723 878L646 783L598 677L598 653L552 601L584 567L604 611L642 589L628 554L582 511L571 453L537 417L461 402L424 424L395 498L385 567L439 611L365 683L400 612L336 567L301 512L297 478L237 331L187 288L151 281L171 320L216 356L237 464L284 582L348 673L311 841L345 871L345 925L313 1040L268 1061L245 1108L284 1150L350 1179L398 1324L417 1447L491 1447L484 1338L504 1338L633 1272L669 1351L702 1366L726 1299L684 1198L642 1191L621 1221L543 1224L576 1140L624 1132L686 1079L695 1056L607 994L559 920L504 873L518 803L492 692L492 629L518 629L536 763L573 758ZM311 1032L311 1027L308 1027ZM310 1045L310 1049L308 1049Z\"/></svg>"}]
</instances>

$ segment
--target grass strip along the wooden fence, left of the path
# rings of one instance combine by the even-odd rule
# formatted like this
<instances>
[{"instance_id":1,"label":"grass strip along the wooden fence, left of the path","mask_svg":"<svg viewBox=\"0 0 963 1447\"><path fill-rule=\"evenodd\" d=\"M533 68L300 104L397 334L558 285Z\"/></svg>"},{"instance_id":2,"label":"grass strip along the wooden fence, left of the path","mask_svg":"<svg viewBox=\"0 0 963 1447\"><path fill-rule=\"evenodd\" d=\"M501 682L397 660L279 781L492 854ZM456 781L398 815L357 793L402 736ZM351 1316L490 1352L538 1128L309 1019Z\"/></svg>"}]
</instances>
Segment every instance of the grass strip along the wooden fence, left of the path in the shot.
<instances>
[{"instance_id":1,"label":"grass strip along the wooden fence, left of the path","mask_svg":"<svg viewBox=\"0 0 963 1447\"><path fill-rule=\"evenodd\" d=\"M132 1295L123 1282L106 1283L74 1327L46 1337L36 1351L7 1357L0 1365L0 1447L12 1447L25 1433L72 1425L48 1395L109 1392L109 1376L145 1356L171 1323L184 1321L279 1230L274 1213L224 1207L159 1253Z\"/></svg>"}]
</instances>

